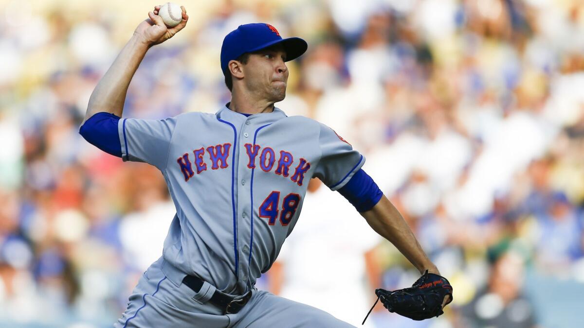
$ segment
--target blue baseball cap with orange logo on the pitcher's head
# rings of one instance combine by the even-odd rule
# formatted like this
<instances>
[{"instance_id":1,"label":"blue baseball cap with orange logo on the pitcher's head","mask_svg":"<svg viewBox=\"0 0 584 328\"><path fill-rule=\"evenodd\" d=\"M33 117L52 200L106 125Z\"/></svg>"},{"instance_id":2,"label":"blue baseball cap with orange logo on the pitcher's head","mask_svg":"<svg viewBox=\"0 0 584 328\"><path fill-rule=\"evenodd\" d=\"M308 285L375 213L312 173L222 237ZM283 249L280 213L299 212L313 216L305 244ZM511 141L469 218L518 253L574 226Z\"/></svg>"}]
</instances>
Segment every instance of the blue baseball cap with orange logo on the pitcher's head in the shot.
<instances>
[{"instance_id":1,"label":"blue baseball cap with orange logo on the pitcher's head","mask_svg":"<svg viewBox=\"0 0 584 328\"><path fill-rule=\"evenodd\" d=\"M239 25L237 30L231 31L221 46L221 71L225 75L227 64L230 60L236 60L245 53L262 50L281 44L286 51L286 61L300 57L308 48L308 44L299 37L282 39L275 27L265 23L252 23Z\"/></svg>"}]
</instances>

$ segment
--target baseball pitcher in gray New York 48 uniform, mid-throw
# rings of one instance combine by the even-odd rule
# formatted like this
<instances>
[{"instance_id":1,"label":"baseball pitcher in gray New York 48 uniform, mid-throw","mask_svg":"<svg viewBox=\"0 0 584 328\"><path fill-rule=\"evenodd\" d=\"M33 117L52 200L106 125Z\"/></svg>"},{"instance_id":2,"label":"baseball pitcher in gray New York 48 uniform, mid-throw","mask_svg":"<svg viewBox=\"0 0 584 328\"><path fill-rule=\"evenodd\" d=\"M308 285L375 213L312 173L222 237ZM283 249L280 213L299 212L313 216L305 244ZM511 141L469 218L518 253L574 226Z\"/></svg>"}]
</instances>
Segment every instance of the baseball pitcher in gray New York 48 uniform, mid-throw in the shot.
<instances>
[{"instance_id":1,"label":"baseball pitcher in gray New York 48 uniform, mid-throw","mask_svg":"<svg viewBox=\"0 0 584 328\"><path fill-rule=\"evenodd\" d=\"M93 90L79 130L124 162L156 166L176 207L162 256L142 275L114 326L350 326L255 288L294 229L313 177L339 191L374 231L426 271L408 290L377 289L385 307L416 320L440 315L451 300L450 285L361 170L363 155L326 125L274 107L286 96L286 62L307 50L303 39L283 39L263 23L241 25L221 47L231 102L217 113L121 118L128 85L148 49L186 26L181 8L182 22L172 28L158 16L160 6L148 13Z\"/></svg>"}]
</instances>

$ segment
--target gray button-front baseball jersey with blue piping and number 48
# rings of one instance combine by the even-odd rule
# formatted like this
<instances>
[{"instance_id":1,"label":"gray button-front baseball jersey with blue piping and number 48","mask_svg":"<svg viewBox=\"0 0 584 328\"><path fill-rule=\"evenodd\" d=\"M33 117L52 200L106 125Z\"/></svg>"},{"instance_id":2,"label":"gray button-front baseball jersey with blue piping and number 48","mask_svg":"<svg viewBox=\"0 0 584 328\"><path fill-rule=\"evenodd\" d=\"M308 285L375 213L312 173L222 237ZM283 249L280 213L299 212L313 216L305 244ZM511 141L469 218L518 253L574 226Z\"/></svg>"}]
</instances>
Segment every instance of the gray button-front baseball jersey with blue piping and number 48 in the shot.
<instances>
[{"instance_id":1,"label":"gray button-front baseball jersey with blue piping and number 48","mask_svg":"<svg viewBox=\"0 0 584 328\"><path fill-rule=\"evenodd\" d=\"M228 294L244 294L272 266L312 177L337 190L365 160L326 125L275 107L124 118L118 128L123 160L161 170L176 206L162 271L176 285L197 275Z\"/></svg>"}]
</instances>

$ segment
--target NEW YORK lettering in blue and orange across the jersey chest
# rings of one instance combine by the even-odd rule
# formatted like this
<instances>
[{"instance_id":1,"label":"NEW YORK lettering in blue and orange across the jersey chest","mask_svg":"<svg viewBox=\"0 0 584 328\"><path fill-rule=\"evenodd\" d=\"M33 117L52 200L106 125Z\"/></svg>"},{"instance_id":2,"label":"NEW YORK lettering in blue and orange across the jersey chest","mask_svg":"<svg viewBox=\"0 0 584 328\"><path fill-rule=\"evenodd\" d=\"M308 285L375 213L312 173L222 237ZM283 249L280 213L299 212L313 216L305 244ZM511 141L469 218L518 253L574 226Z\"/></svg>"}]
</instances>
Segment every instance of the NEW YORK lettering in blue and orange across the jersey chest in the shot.
<instances>
[{"instance_id":1,"label":"NEW YORK lettering in blue and orange across the jersey chest","mask_svg":"<svg viewBox=\"0 0 584 328\"><path fill-rule=\"evenodd\" d=\"M290 152L280 151L279 155L276 155L274 149L270 147L252 144L245 144L244 147L245 153L248 155L249 169L255 169L257 162L257 166L264 172L272 172L273 170L274 174L283 177L289 176L292 182L302 186L304 173L310 170L310 163L306 159L300 158L296 161L297 165L294 166L294 155ZM193 150L193 161L190 160L190 153L186 152L176 159L176 163L179 165L180 172L185 176L185 181L189 181L195 172L199 175L206 171L207 163L210 163L212 170L227 169L229 167L230 149L230 143L201 147ZM278 157L276 158L276 156ZM208 162L206 163L205 160L207 158Z\"/></svg>"}]
</instances>

